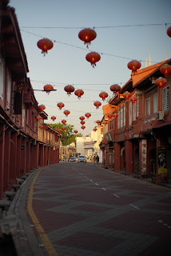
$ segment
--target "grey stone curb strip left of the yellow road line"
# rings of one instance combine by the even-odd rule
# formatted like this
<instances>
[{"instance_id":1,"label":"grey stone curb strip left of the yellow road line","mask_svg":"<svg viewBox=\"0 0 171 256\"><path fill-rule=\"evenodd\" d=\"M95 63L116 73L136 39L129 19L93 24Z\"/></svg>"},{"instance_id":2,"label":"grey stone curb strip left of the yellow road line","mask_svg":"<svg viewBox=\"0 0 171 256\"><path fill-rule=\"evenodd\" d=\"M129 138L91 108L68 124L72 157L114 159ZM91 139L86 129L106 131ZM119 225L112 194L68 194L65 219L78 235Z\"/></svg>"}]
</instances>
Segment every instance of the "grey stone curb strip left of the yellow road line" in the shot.
<instances>
[{"instance_id":1,"label":"grey stone curb strip left of the yellow road line","mask_svg":"<svg viewBox=\"0 0 171 256\"><path fill-rule=\"evenodd\" d=\"M22 183L15 194L13 202L4 218L10 227L15 250L18 256L45 256L43 248L38 247L41 243L35 235L33 227L30 226L30 220L26 214L26 201L30 190L30 184L35 175L42 168L34 170L26 181Z\"/></svg>"}]
</instances>

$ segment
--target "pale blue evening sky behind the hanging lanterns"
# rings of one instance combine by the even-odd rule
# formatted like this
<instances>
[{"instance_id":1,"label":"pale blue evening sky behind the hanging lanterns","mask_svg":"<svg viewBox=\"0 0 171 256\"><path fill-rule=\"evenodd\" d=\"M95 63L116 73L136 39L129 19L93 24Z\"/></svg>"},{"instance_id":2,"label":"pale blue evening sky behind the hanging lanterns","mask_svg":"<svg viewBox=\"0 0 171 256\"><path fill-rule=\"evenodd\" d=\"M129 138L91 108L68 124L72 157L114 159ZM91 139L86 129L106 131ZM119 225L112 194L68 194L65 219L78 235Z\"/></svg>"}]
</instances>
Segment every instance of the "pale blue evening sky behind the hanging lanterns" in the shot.
<instances>
[{"instance_id":1,"label":"pale blue evening sky behind the hanging lanterns","mask_svg":"<svg viewBox=\"0 0 171 256\"><path fill-rule=\"evenodd\" d=\"M47 122L66 119L67 124L84 136L88 135L96 121L103 117L99 94L106 91L111 98L109 87L115 83L124 86L130 78L131 70L127 64L132 59L141 61L151 57L151 65L171 58L171 38L166 30L171 26L170 0L10 0L15 8L22 41L30 72L28 77L34 88L38 105L46 106ZM152 25L153 24L153 25ZM89 49L78 38L80 30L89 27L97 33ZM38 49L37 42L49 38L54 47L46 57ZM101 60L93 68L85 60L90 51L101 54ZM51 84L56 91L49 95L42 91L43 86ZM79 100L64 91L66 85L84 90ZM99 100L98 110L93 102ZM57 103L65 107L58 110ZM70 110L66 118L64 110ZM79 117L86 112L92 114L85 118L85 130L81 129Z\"/></svg>"}]
</instances>

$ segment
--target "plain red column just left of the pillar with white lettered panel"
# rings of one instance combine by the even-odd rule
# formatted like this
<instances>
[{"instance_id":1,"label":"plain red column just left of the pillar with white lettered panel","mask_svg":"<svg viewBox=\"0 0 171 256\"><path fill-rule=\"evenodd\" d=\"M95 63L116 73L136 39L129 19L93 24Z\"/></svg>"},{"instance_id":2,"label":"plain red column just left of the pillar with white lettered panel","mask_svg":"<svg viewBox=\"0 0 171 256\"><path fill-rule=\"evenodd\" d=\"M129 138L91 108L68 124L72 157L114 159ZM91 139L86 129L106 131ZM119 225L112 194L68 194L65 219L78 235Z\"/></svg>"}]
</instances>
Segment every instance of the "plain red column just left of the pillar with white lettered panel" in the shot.
<instances>
[{"instance_id":1,"label":"plain red column just left of the pillar with white lettered panel","mask_svg":"<svg viewBox=\"0 0 171 256\"><path fill-rule=\"evenodd\" d=\"M133 173L133 142L125 141L125 171L127 174Z\"/></svg>"}]
</instances>

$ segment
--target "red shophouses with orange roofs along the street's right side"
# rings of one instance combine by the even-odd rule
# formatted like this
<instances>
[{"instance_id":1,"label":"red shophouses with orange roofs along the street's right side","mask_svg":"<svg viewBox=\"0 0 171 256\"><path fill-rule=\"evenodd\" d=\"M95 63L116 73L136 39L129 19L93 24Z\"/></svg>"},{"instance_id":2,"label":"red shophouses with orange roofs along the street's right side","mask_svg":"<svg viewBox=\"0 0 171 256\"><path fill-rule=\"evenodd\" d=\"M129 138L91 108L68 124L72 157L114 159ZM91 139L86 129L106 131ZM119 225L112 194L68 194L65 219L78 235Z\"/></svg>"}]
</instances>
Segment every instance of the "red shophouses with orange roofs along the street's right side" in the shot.
<instances>
[{"instance_id":1,"label":"red shophouses with orange roofs along the street's right side","mask_svg":"<svg viewBox=\"0 0 171 256\"><path fill-rule=\"evenodd\" d=\"M155 80L164 77L163 64L171 59L137 70L103 106L102 163L106 168L171 182L171 74L163 88ZM125 91L137 95L137 102L125 101ZM117 118L108 113L117 112Z\"/></svg>"}]
</instances>

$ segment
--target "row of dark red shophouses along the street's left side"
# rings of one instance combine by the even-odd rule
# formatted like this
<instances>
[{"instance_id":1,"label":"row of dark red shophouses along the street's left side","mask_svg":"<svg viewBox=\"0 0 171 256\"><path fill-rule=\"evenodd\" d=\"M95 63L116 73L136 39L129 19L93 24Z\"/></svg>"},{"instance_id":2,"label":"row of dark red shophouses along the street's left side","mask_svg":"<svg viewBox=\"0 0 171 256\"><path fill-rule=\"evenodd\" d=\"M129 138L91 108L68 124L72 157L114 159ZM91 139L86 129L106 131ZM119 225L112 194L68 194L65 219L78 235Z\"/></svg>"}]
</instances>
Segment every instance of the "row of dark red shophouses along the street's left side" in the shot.
<instances>
[{"instance_id":1,"label":"row of dark red shophouses along the street's left side","mask_svg":"<svg viewBox=\"0 0 171 256\"><path fill-rule=\"evenodd\" d=\"M22 175L59 160L59 134L38 108L18 20L7 3L0 1L0 198Z\"/></svg>"}]
</instances>

